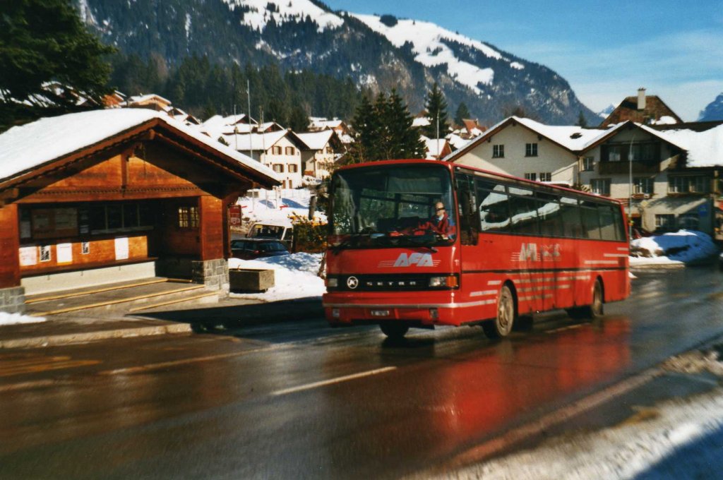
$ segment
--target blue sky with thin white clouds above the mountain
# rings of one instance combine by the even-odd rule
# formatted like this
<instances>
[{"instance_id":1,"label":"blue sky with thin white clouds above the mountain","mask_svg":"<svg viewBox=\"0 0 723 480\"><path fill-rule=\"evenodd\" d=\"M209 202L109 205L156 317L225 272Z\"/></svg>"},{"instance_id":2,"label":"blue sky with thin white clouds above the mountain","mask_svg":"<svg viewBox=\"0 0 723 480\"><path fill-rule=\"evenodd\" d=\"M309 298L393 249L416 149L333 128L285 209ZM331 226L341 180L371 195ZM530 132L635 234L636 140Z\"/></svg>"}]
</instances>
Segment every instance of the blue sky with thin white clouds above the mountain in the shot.
<instances>
[{"instance_id":1,"label":"blue sky with thin white clouds above the mountain","mask_svg":"<svg viewBox=\"0 0 723 480\"><path fill-rule=\"evenodd\" d=\"M646 87L693 121L723 93L723 0L324 1L434 22L544 64L594 111Z\"/></svg>"}]
</instances>

